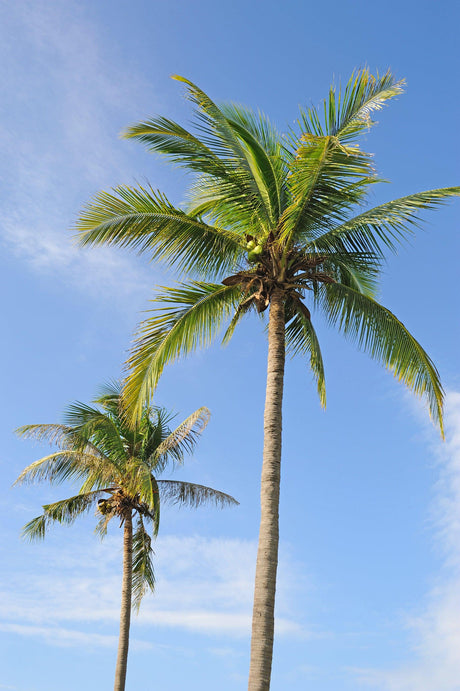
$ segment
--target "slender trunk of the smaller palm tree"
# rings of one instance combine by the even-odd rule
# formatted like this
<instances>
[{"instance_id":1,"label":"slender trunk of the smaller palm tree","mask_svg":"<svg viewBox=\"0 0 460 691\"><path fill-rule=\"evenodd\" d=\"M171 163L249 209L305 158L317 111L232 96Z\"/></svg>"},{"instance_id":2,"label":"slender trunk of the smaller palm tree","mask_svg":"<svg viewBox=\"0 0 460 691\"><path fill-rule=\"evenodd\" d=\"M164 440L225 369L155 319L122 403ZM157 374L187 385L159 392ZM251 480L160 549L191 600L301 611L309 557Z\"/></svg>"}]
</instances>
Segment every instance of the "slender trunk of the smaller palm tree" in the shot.
<instances>
[{"instance_id":1,"label":"slender trunk of the smaller palm tree","mask_svg":"<svg viewBox=\"0 0 460 691\"><path fill-rule=\"evenodd\" d=\"M120 638L114 691L124 691L128 664L129 625L131 621L131 591L133 580L133 519L126 512L123 533L123 580L121 586Z\"/></svg>"}]
</instances>

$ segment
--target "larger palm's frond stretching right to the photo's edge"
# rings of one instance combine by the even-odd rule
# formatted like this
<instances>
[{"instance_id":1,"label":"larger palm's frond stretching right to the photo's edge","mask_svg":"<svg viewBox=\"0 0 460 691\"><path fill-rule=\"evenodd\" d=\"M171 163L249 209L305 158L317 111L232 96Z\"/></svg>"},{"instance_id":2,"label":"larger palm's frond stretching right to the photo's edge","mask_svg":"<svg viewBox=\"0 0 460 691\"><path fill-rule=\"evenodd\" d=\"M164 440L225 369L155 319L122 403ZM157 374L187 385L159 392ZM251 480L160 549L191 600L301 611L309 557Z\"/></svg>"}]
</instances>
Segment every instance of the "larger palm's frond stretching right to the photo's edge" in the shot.
<instances>
[{"instance_id":1,"label":"larger palm's frond stretching right to the photo's edge","mask_svg":"<svg viewBox=\"0 0 460 691\"><path fill-rule=\"evenodd\" d=\"M308 244L318 252L336 248L351 252L373 252L383 256L382 246L396 251L397 245L420 225L419 212L434 209L449 197L460 196L460 187L445 187L394 199L329 230Z\"/></svg>"}]
</instances>

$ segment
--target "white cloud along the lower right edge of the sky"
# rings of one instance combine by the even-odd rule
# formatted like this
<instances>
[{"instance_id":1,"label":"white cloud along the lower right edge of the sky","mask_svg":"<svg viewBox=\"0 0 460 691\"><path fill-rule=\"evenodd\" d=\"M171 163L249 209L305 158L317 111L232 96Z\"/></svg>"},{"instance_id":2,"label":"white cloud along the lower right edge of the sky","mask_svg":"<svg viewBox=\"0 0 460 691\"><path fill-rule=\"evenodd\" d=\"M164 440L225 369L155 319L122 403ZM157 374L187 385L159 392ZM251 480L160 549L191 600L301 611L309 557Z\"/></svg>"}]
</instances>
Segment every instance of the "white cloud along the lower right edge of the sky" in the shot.
<instances>
[{"instance_id":1,"label":"white cloud along the lower right edge of the sky","mask_svg":"<svg viewBox=\"0 0 460 691\"><path fill-rule=\"evenodd\" d=\"M395 669L354 670L381 691L458 691L460 688L460 393L446 397L446 443L435 449L440 470L433 507L436 546L444 567L423 609L406 617L411 659Z\"/></svg>"}]
</instances>

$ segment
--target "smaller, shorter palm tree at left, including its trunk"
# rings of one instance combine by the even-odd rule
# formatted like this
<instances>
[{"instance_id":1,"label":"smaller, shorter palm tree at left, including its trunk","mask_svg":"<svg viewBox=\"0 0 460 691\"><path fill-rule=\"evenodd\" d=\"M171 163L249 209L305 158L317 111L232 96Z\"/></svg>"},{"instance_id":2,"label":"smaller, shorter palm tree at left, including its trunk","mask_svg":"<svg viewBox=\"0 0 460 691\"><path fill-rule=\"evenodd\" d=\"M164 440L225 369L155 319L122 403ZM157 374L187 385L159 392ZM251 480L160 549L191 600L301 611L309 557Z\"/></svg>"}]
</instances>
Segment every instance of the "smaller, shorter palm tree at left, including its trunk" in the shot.
<instances>
[{"instance_id":1,"label":"smaller, shorter palm tree at left, including its trunk","mask_svg":"<svg viewBox=\"0 0 460 691\"><path fill-rule=\"evenodd\" d=\"M17 430L21 436L55 443L59 450L25 468L16 484L82 482L75 496L43 506L42 515L24 526L23 534L31 540L44 538L51 523L71 524L94 506L100 516L96 532L101 537L112 518L120 519L123 577L114 690L124 691L131 606L138 611L147 590L155 586L151 544L158 533L160 503L195 508L210 502L221 507L238 502L210 487L157 477L169 463L181 464L193 450L208 423L207 408L199 408L171 431L171 415L163 408L147 406L137 423L128 426L117 384L104 387L93 403L96 407L70 405L65 424L26 425Z\"/></svg>"}]
</instances>

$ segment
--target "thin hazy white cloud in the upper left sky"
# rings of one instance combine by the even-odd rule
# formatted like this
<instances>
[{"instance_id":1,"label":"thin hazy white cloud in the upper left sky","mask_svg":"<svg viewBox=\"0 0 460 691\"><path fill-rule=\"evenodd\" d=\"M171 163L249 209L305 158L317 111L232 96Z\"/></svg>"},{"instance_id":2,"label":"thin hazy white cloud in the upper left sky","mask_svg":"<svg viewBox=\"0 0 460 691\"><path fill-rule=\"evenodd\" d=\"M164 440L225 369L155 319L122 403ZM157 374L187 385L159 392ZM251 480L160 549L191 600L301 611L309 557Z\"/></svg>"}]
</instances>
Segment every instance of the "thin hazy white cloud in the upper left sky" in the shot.
<instances>
[{"instance_id":1,"label":"thin hazy white cloud in the upper left sky","mask_svg":"<svg viewBox=\"0 0 460 691\"><path fill-rule=\"evenodd\" d=\"M4 247L32 270L98 297L148 295L151 271L139 261L80 250L69 230L96 190L130 181L129 147L117 134L132 119L127 104L141 107L146 85L78 3L3 3L0 24L0 86L9 106L0 126Z\"/></svg>"}]
</instances>

